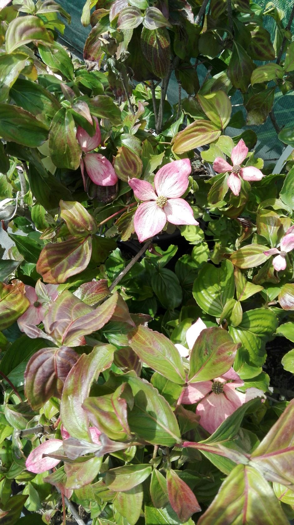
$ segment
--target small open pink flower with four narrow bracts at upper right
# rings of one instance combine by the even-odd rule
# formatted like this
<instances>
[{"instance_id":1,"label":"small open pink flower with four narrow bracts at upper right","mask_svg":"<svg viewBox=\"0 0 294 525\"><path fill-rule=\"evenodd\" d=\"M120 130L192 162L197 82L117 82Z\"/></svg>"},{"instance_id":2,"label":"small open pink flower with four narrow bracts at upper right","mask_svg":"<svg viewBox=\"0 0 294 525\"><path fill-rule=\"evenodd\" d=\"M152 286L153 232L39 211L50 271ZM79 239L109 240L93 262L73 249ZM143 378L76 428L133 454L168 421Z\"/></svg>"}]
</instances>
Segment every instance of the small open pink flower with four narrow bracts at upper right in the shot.
<instances>
[{"instance_id":1,"label":"small open pink flower with four narrow bracts at upper right","mask_svg":"<svg viewBox=\"0 0 294 525\"><path fill-rule=\"evenodd\" d=\"M264 177L264 174L261 172L261 170L258 170L257 167L241 167L241 164L242 162L244 162L247 153L248 148L243 139L241 139L239 140L238 144L232 149L232 166L221 157L217 157L213 162L213 170L217 173L225 173L227 171L231 172L228 178L228 186L232 190L234 195L239 195L240 193L240 177L243 178L244 181L260 181L262 177Z\"/></svg>"}]
</instances>

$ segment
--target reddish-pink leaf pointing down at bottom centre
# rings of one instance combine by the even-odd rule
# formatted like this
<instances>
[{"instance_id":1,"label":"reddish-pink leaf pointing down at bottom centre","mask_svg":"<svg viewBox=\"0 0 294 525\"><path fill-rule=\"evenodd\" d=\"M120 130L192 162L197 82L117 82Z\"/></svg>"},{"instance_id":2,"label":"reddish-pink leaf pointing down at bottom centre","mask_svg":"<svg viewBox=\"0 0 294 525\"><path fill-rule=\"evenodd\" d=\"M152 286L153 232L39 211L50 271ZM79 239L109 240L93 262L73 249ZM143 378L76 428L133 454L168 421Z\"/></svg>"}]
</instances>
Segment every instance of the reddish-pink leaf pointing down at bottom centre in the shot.
<instances>
[{"instance_id":1,"label":"reddish-pink leaf pointing down at bottom centre","mask_svg":"<svg viewBox=\"0 0 294 525\"><path fill-rule=\"evenodd\" d=\"M192 514L200 512L201 507L196 496L174 470L167 470L166 481L169 502L180 521L188 521Z\"/></svg>"}]
</instances>

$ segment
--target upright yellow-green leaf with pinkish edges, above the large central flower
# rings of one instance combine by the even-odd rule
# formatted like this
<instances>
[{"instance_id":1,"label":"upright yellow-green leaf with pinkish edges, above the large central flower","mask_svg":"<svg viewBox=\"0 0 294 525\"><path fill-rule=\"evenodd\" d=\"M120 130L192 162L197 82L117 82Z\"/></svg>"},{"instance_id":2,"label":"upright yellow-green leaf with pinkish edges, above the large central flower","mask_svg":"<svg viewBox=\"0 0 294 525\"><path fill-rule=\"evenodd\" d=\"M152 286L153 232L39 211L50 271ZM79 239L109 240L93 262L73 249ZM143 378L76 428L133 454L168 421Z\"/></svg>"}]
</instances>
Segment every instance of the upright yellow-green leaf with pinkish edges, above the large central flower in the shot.
<instances>
[{"instance_id":1,"label":"upright yellow-green leaf with pinkish edges, above the large central flower","mask_svg":"<svg viewBox=\"0 0 294 525\"><path fill-rule=\"evenodd\" d=\"M197 95L202 110L206 116L223 130L227 127L232 112L232 104L224 91L213 91L208 95Z\"/></svg>"}]
</instances>

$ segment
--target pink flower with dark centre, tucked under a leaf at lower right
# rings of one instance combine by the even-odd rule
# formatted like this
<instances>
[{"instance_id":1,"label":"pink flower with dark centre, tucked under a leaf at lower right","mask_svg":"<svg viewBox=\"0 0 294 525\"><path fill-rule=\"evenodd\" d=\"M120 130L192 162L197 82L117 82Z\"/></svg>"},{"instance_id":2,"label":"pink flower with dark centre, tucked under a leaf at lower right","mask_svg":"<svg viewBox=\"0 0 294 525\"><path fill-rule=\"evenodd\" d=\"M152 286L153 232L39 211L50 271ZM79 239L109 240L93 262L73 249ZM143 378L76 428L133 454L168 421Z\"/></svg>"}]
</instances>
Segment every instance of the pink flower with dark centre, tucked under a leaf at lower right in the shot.
<instances>
[{"instance_id":1,"label":"pink flower with dark centre, tucked under a leaf at lower right","mask_svg":"<svg viewBox=\"0 0 294 525\"><path fill-rule=\"evenodd\" d=\"M247 388L246 392L238 392L236 388L243 386L244 381L231 368L228 372L213 381L191 383L185 388L181 403L191 405L198 403L196 414L200 416L200 425L210 434L230 416L237 408L254 397L265 397L258 388Z\"/></svg>"}]
</instances>

